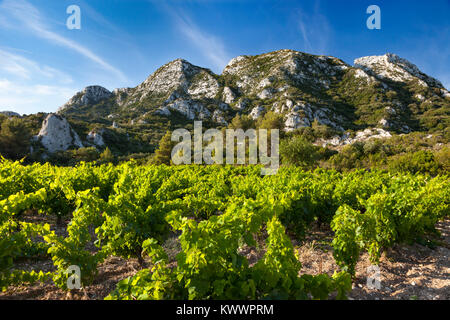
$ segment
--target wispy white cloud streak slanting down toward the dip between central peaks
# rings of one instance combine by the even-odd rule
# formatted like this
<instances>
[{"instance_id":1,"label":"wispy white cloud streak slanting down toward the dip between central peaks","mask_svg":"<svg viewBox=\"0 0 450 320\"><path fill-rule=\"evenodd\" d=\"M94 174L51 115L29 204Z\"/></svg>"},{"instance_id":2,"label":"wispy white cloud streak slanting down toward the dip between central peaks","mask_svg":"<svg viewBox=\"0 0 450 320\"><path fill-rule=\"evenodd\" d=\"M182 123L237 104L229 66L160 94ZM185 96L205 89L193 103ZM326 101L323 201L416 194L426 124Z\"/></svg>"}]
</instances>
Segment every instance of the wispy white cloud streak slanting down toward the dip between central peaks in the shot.
<instances>
[{"instance_id":1,"label":"wispy white cloud streak slanting down toward the dip between central peaks","mask_svg":"<svg viewBox=\"0 0 450 320\"><path fill-rule=\"evenodd\" d=\"M216 71L222 71L231 59L222 39L195 24L185 10L174 9L168 4L164 5L164 9L172 18L178 31L198 49Z\"/></svg>"}]
</instances>

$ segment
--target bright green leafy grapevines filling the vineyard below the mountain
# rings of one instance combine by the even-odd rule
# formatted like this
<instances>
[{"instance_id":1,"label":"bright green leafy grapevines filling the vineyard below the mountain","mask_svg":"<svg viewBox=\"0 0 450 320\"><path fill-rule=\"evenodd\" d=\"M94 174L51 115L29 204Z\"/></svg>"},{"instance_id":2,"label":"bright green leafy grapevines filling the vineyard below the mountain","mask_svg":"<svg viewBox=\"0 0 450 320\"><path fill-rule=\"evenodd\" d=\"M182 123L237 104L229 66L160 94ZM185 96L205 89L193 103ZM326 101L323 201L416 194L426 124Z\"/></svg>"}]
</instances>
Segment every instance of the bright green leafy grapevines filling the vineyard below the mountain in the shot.
<instances>
[{"instance_id":1,"label":"bright green leafy grapevines filling the vineyard below the mountain","mask_svg":"<svg viewBox=\"0 0 450 320\"><path fill-rule=\"evenodd\" d=\"M3 159L0 287L52 282L70 290L71 266L86 286L114 256L137 259L140 270L106 299L345 299L362 253L377 264L396 244L426 241L450 215L447 176L294 167L261 176L260 169ZM58 233L30 216L70 222ZM333 232L340 271L332 276L299 275L292 240L313 225ZM163 245L173 238L175 262ZM246 247L264 254L250 263ZM53 271L17 267L36 258L51 259Z\"/></svg>"}]
</instances>

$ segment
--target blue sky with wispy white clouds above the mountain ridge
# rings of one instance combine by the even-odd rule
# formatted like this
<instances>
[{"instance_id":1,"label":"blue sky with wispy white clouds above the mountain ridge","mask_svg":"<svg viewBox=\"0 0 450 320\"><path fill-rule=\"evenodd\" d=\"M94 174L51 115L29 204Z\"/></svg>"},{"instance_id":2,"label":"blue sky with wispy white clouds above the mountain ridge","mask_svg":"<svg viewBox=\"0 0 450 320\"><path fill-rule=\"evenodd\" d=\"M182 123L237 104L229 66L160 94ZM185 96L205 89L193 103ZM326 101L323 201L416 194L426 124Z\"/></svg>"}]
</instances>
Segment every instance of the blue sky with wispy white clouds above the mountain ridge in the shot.
<instances>
[{"instance_id":1,"label":"blue sky with wispy white clouds above the mountain ridge","mask_svg":"<svg viewBox=\"0 0 450 320\"><path fill-rule=\"evenodd\" d=\"M366 9L381 8L381 30ZM69 30L66 8L81 9ZM238 55L392 52L450 87L450 0L0 0L0 110L54 112L82 88L134 87L184 58L221 73Z\"/></svg>"}]
</instances>

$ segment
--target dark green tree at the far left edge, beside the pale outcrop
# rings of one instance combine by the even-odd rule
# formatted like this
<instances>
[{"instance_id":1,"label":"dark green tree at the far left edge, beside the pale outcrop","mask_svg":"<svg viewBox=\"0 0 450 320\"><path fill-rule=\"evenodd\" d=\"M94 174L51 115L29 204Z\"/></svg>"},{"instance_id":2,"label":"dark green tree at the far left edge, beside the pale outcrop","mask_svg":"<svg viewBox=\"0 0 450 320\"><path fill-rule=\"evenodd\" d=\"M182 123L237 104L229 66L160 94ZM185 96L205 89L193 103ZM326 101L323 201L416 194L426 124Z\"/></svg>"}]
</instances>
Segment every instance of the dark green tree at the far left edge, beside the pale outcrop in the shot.
<instances>
[{"instance_id":1,"label":"dark green tree at the far left edge, beside the pale outcrop","mask_svg":"<svg viewBox=\"0 0 450 320\"><path fill-rule=\"evenodd\" d=\"M19 160L29 153L30 139L31 132L21 119L5 120L0 130L0 154Z\"/></svg>"}]
</instances>

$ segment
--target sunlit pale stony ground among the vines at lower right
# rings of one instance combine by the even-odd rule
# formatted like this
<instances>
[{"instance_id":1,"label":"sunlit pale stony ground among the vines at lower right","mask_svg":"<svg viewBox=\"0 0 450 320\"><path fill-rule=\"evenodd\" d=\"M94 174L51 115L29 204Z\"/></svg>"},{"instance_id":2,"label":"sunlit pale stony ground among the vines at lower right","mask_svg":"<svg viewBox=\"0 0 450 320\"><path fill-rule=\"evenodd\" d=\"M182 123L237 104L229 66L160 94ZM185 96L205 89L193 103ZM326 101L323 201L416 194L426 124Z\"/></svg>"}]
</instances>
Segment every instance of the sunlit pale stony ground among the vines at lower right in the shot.
<instances>
[{"instance_id":1,"label":"sunlit pale stony ground among the vines at lower right","mask_svg":"<svg viewBox=\"0 0 450 320\"><path fill-rule=\"evenodd\" d=\"M450 299L450 219L440 222L437 229L442 237L431 249L419 244L396 245L385 252L380 261L380 289L370 289L368 276L373 272L368 254L364 253L357 266L353 290L354 300L449 300ZM319 234L318 234L319 233ZM298 248L302 272L330 275L338 270L332 251L323 239L331 237L320 232ZM317 237L320 235L321 237ZM319 240L320 239L320 240ZM369 271L369 272L368 272Z\"/></svg>"}]
</instances>

